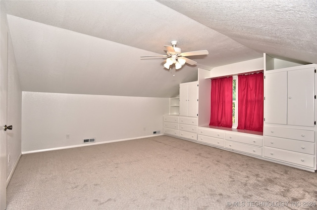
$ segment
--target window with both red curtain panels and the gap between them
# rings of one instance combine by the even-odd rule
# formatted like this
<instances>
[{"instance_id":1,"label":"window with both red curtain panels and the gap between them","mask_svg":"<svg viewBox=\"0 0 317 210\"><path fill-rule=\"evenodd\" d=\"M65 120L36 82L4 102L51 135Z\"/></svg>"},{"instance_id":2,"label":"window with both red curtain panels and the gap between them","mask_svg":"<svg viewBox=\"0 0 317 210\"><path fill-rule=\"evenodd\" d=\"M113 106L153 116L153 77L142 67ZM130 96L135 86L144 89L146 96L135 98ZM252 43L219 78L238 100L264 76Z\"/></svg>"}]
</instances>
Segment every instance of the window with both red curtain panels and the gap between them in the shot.
<instances>
[{"instance_id":1,"label":"window with both red curtain panels and the gap between them","mask_svg":"<svg viewBox=\"0 0 317 210\"><path fill-rule=\"evenodd\" d=\"M263 93L263 72L212 79L210 126L262 132Z\"/></svg>"}]
</instances>

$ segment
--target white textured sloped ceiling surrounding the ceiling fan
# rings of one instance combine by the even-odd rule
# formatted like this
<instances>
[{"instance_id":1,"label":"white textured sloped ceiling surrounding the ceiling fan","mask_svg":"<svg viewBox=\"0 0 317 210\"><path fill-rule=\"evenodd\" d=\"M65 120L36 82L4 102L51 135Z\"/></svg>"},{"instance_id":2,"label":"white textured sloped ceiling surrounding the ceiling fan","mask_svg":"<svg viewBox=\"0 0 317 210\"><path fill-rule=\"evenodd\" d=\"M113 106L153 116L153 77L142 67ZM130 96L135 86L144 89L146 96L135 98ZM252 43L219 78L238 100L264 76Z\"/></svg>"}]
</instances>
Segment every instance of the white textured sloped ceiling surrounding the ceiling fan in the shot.
<instances>
[{"instance_id":1,"label":"white textured sloped ceiling surrounding the ceiling fan","mask_svg":"<svg viewBox=\"0 0 317 210\"><path fill-rule=\"evenodd\" d=\"M23 91L174 97L198 68L264 52L317 63L316 0L1 0L1 10ZM140 58L172 40L209 55L176 73Z\"/></svg>"}]
</instances>

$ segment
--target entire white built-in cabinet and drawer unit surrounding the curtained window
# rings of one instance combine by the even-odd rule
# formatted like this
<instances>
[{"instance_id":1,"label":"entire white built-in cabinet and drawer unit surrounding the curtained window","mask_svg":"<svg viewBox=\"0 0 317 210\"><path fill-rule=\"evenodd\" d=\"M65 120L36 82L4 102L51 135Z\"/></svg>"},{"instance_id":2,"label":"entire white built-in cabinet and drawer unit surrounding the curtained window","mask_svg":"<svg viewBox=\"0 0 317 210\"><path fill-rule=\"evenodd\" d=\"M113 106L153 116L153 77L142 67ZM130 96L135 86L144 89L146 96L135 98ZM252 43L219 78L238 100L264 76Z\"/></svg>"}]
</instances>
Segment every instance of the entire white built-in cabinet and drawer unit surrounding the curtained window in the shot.
<instances>
[{"instance_id":1,"label":"entire white built-in cabinet and drawer unit surrounding the curtained window","mask_svg":"<svg viewBox=\"0 0 317 210\"><path fill-rule=\"evenodd\" d=\"M315 172L317 64L274 69L273 60L264 68L263 133L208 125L211 83L204 70L199 86L180 84L179 115L164 115L164 134Z\"/></svg>"}]
</instances>

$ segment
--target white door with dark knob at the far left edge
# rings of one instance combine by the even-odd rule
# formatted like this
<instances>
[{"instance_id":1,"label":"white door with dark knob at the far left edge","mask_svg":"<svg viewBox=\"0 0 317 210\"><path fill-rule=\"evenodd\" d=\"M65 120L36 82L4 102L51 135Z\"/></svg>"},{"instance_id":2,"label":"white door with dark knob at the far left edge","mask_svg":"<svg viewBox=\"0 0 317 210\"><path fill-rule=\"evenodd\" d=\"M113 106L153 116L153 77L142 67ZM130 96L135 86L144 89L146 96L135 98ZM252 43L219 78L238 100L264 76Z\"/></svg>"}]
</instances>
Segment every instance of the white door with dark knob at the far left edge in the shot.
<instances>
[{"instance_id":1,"label":"white door with dark knob at the far left edge","mask_svg":"<svg viewBox=\"0 0 317 210\"><path fill-rule=\"evenodd\" d=\"M6 131L2 127L6 125L7 32L1 33L0 45L0 210L4 210L6 208Z\"/></svg>"}]
</instances>

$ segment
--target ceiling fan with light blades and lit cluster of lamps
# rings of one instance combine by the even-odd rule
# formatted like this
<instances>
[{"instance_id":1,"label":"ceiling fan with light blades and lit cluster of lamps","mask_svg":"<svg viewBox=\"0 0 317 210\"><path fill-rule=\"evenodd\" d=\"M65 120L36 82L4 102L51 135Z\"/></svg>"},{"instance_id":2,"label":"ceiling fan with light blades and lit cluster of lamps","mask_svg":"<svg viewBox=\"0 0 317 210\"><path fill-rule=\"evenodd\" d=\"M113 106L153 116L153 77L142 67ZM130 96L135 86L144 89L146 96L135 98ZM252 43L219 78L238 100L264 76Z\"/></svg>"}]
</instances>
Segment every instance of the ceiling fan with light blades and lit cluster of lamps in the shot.
<instances>
[{"instance_id":1,"label":"ceiling fan with light blades and lit cluster of lamps","mask_svg":"<svg viewBox=\"0 0 317 210\"><path fill-rule=\"evenodd\" d=\"M175 65L175 69L180 69L185 63L190 65L197 64L196 61L186 58L186 56L193 56L193 55L208 55L208 50L199 50L199 51L191 51L191 52L182 52L181 48L176 47L177 41L173 40L170 42L172 46L164 45L166 48L166 55L145 55L143 57L167 57L166 63L164 67L166 69L170 69L171 65Z\"/></svg>"}]
</instances>

